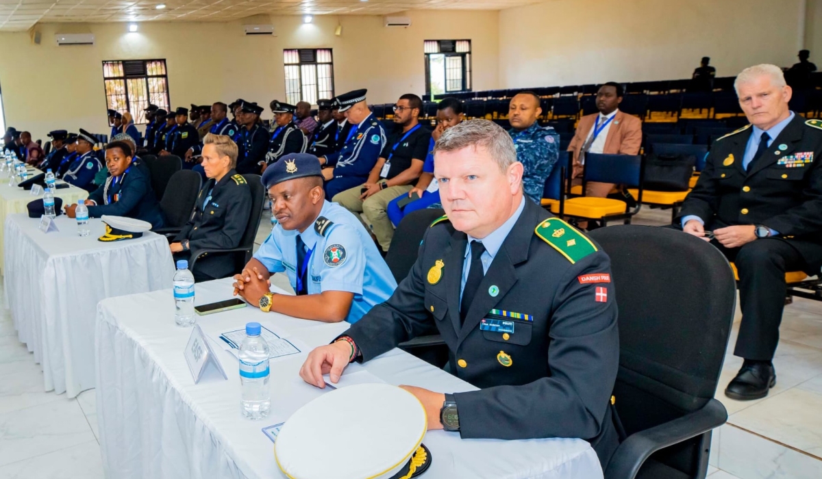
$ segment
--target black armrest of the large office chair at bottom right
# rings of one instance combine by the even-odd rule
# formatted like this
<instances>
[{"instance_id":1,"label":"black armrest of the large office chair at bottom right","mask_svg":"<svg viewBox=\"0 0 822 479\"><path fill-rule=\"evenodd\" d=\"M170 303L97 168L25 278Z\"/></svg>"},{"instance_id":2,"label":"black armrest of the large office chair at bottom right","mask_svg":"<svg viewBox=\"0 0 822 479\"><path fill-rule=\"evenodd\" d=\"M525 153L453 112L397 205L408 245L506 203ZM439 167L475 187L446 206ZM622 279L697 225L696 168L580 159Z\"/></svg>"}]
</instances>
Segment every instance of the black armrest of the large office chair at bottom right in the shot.
<instances>
[{"instance_id":1,"label":"black armrest of the large office chair at bottom right","mask_svg":"<svg viewBox=\"0 0 822 479\"><path fill-rule=\"evenodd\" d=\"M605 479L633 479L651 454L722 426L727 411L711 399L701 409L659 426L636 432L619 444L605 469Z\"/></svg>"}]
</instances>

